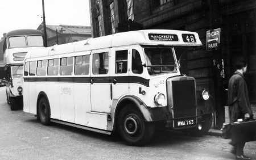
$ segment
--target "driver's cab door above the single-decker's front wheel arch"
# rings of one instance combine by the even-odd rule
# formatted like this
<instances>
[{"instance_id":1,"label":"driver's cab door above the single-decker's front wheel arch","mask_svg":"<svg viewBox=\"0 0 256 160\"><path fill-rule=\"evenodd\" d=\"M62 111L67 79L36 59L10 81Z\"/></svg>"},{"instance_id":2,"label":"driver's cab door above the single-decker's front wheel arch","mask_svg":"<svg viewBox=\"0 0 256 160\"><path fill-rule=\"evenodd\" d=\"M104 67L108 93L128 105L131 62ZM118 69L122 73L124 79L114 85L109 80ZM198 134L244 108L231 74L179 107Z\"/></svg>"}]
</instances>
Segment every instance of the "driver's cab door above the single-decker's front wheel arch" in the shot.
<instances>
[{"instance_id":1,"label":"driver's cab door above the single-decker's front wheel arch","mask_svg":"<svg viewBox=\"0 0 256 160\"><path fill-rule=\"evenodd\" d=\"M121 96L129 93L129 63L131 56L129 48L113 48L110 60L110 98L113 103L117 102Z\"/></svg>"}]
</instances>

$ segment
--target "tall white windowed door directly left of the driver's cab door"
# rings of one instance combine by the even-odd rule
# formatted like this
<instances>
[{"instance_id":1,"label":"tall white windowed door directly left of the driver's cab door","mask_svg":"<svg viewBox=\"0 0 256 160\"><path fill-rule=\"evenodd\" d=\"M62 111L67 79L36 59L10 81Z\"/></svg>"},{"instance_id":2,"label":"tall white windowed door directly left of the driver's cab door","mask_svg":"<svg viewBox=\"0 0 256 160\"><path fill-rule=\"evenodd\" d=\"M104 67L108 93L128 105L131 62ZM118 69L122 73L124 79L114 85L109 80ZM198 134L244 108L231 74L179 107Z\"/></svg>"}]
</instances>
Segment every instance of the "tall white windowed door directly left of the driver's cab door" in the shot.
<instances>
[{"instance_id":1,"label":"tall white windowed door directly left of the driver's cab door","mask_svg":"<svg viewBox=\"0 0 256 160\"><path fill-rule=\"evenodd\" d=\"M93 112L110 112L110 49L92 51L90 98Z\"/></svg>"}]
</instances>

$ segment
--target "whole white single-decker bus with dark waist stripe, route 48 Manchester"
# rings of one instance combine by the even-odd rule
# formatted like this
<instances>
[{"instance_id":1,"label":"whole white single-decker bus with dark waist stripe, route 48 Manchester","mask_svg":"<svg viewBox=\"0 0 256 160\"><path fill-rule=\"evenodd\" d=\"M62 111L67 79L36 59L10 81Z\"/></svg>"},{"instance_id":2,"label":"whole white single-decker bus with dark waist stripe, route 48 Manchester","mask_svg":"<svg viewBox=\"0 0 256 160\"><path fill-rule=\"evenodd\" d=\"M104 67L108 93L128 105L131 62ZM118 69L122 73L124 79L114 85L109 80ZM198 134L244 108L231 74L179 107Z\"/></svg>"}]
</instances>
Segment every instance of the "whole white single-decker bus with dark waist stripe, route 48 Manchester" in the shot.
<instances>
[{"instance_id":1,"label":"whole white single-decker bus with dark waist stripe, route 48 Manchester","mask_svg":"<svg viewBox=\"0 0 256 160\"><path fill-rule=\"evenodd\" d=\"M32 50L23 111L45 125L117 131L130 145L145 144L159 126L208 131L211 114L197 106L195 78L180 75L175 54L201 45L195 32L142 30Z\"/></svg>"}]
</instances>

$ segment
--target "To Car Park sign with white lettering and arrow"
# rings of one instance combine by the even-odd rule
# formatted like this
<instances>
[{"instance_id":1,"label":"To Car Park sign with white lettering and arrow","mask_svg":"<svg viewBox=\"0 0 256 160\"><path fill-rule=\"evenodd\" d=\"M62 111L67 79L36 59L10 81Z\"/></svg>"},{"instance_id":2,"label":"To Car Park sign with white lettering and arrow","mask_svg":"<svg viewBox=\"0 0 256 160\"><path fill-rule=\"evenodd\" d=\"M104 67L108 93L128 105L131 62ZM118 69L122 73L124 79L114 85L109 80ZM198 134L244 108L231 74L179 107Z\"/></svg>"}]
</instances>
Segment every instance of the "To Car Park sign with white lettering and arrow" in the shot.
<instances>
[{"instance_id":1,"label":"To Car Park sign with white lettering and arrow","mask_svg":"<svg viewBox=\"0 0 256 160\"><path fill-rule=\"evenodd\" d=\"M207 31L207 39L206 39L207 50L215 50L220 47L220 34L221 34L220 28Z\"/></svg>"}]
</instances>

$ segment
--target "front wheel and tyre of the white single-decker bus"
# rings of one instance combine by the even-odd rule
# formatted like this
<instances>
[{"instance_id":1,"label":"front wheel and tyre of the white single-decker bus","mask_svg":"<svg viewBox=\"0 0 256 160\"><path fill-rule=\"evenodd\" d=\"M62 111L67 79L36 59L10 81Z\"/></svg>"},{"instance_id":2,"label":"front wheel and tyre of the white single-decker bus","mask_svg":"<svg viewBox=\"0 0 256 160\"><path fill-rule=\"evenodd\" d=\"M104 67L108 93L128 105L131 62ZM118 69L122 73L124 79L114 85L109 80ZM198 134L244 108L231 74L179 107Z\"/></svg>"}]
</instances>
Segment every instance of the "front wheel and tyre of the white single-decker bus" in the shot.
<instances>
[{"instance_id":1,"label":"front wheel and tyre of the white single-decker bus","mask_svg":"<svg viewBox=\"0 0 256 160\"><path fill-rule=\"evenodd\" d=\"M151 140L155 125L144 121L142 113L131 104L119 112L118 133L128 145L142 146Z\"/></svg>"}]
</instances>

